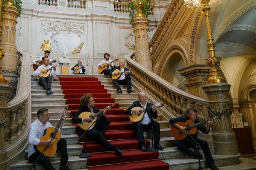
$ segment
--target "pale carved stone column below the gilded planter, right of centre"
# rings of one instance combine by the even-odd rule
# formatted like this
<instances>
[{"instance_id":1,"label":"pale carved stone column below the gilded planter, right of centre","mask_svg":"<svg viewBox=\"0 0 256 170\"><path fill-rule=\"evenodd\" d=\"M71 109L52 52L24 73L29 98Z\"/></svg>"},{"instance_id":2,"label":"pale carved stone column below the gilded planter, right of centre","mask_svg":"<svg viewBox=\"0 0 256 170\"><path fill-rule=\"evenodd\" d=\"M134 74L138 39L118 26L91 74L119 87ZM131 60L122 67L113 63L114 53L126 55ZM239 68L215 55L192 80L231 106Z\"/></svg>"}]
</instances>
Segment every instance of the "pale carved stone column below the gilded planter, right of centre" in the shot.
<instances>
[{"instance_id":1,"label":"pale carved stone column below the gilded planter, right of centre","mask_svg":"<svg viewBox=\"0 0 256 170\"><path fill-rule=\"evenodd\" d=\"M135 36L135 61L153 71L148 45L148 23L149 20L144 17L137 17L132 22Z\"/></svg>"}]
</instances>

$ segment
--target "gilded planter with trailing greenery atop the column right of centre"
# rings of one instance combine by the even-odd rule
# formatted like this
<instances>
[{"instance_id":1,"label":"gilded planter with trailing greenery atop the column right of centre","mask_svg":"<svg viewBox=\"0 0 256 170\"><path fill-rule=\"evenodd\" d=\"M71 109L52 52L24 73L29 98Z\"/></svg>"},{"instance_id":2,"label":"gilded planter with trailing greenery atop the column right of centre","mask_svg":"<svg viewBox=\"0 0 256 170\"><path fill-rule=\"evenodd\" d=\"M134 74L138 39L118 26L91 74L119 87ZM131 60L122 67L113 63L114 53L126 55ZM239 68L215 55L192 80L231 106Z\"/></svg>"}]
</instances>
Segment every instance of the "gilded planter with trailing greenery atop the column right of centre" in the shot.
<instances>
[{"instance_id":1,"label":"gilded planter with trailing greenery atop the column right of centre","mask_svg":"<svg viewBox=\"0 0 256 170\"><path fill-rule=\"evenodd\" d=\"M146 0L130 0L129 3L129 23L132 23L135 17L148 18L150 14L150 3Z\"/></svg>"}]
</instances>

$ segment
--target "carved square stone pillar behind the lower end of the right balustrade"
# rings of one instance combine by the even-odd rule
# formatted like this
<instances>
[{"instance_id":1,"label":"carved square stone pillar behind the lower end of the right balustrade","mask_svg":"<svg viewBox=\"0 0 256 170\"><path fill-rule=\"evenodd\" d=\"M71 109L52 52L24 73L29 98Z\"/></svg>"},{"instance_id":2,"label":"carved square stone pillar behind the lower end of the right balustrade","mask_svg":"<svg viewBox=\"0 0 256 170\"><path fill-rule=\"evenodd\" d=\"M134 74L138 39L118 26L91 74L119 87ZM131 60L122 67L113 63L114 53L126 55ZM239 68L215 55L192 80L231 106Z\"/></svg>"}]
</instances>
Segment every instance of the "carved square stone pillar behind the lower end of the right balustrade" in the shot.
<instances>
[{"instance_id":1,"label":"carved square stone pillar behind the lower end of the right balustrade","mask_svg":"<svg viewBox=\"0 0 256 170\"><path fill-rule=\"evenodd\" d=\"M186 87L189 94L207 99L202 86L206 84L209 77L209 67L206 65L191 65L180 69L180 74L186 78Z\"/></svg>"}]
</instances>

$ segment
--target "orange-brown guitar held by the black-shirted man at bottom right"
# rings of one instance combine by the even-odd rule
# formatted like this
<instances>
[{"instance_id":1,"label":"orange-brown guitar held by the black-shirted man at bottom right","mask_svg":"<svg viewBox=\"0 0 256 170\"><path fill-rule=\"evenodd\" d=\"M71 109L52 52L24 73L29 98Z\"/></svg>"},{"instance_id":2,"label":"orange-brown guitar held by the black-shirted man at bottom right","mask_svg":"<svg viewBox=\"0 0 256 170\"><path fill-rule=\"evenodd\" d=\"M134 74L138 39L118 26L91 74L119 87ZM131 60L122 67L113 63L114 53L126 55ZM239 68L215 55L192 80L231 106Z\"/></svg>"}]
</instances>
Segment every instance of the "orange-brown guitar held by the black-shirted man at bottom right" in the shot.
<instances>
[{"instance_id":1,"label":"orange-brown guitar held by the black-shirted man at bottom right","mask_svg":"<svg viewBox=\"0 0 256 170\"><path fill-rule=\"evenodd\" d=\"M207 119L207 120L204 120L204 121L199 122L199 123L195 123L191 119L187 120L186 122L177 122L178 125L186 127L187 133L185 134L185 132L182 132L177 127L171 125L172 136L175 139L181 141L181 140L185 139L186 136L188 136L188 133L191 134L191 135L197 133L197 128L196 127L204 125L208 121L216 122L216 121L219 121L220 119L221 118L219 116L215 116L212 119Z\"/></svg>"}]
</instances>

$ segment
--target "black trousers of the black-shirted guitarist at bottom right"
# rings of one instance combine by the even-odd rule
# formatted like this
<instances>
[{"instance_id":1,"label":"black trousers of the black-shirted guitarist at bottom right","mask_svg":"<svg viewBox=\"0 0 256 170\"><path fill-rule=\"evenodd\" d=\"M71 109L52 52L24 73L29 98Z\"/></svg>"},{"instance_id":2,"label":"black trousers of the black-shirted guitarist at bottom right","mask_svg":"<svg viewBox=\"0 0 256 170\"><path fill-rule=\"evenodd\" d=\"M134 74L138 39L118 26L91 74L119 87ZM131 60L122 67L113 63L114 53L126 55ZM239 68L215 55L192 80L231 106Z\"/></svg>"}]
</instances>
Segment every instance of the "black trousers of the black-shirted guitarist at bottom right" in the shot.
<instances>
[{"instance_id":1,"label":"black trousers of the black-shirted guitarist at bottom right","mask_svg":"<svg viewBox=\"0 0 256 170\"><path fill-rule=\"evenodd\" d=\"M189 138L189 137L187 137ZM190 143L190 142L192 143ZM187 156L191 157L193 155L193 151L190 150L189 148L195 148L195 142L192 141L192 139L189 139L189 141L187 141L186 139L183 139L182 141L178 141L175 140L174 145L178 148L178 150L182 151L183 153L185 153ZM209 144L205 141L202 141L200 139L195 139L196 142L198 142L198 144L201 146L201 148L203 149L204 152L204 156L205 159L207 161L207 164L214 164L214 160L212 158L212 154L211 151L209 149Z\"/></svg>"}]
</instances>

